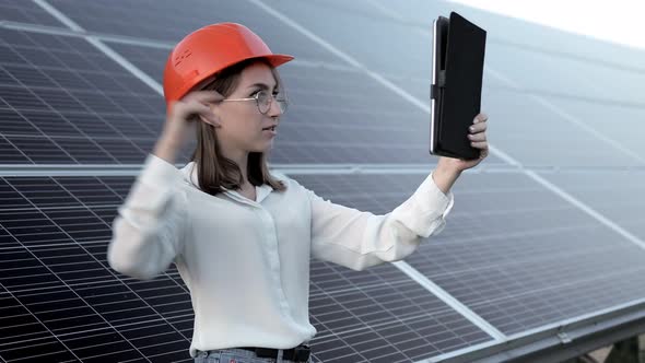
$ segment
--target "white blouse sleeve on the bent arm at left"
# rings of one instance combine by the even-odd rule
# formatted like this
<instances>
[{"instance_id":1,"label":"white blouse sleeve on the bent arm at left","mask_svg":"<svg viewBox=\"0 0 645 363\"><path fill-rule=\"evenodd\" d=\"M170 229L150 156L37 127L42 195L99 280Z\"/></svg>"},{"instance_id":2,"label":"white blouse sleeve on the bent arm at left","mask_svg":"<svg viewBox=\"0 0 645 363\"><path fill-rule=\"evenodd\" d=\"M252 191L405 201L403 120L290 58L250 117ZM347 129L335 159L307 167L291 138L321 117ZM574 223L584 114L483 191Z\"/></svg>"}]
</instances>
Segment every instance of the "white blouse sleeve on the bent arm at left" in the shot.
<instances>
[{"instance_id":1,"label":"white blouse sleeve on the bent arm at left","mask_svg":"<svg viewBox=\"0 0 645 363\"><path fill-rule=\"evenodd\" d=\"M152 279L165 271L184 244L186 195L181 172L149 154L113 223L107 260L116 271Z\"/></svg>"}]
</instances>

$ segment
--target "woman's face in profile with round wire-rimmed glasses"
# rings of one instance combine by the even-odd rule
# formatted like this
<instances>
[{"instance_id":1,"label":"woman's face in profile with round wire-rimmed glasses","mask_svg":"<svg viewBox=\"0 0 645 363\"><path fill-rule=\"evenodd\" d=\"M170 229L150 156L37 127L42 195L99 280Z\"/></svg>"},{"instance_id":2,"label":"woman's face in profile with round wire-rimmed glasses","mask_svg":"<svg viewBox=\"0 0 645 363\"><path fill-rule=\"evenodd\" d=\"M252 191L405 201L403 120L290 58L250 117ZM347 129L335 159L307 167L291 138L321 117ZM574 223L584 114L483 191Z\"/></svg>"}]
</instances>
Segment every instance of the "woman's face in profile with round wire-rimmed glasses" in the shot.
<instances>
[{"instance_id":1,"label":"woman's face in profile with round wire-rimmed glasses","mask_svg":"<svg viewBox=\"0 0 645 363\"><path fill-rule=\"evenodd\" d=\"M271 68L262 62L246 67L237 87L226 98L249 98L259 91L278 93L278 84ZM255 99L222 102L212 106L222 127L215 128L218 139L225 151L265 152L273 145L273 133L262 128L278 124L282 114L272 99L269 110L262 115Z\"/></svg>"}]
</instances>

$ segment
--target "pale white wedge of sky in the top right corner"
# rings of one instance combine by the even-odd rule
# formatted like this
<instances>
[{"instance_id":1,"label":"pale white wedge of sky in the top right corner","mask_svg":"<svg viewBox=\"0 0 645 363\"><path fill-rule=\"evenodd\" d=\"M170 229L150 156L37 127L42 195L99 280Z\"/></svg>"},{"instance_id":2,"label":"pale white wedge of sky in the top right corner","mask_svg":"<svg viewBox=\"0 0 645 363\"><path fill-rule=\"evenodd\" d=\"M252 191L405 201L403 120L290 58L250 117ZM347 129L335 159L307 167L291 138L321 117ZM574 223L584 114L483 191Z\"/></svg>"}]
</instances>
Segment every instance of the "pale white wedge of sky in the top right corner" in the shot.
<instances>
[{"instance_id":1,"label":"pale white wedge of sky in the top right corner","mask_svg":"<svg viewBox=\"0 0 645 363\"><path fill-rule=\"evenodd\" d=\"M563 31L645 49L644 0L452 0Z\"/></svg>"}]
</instances>

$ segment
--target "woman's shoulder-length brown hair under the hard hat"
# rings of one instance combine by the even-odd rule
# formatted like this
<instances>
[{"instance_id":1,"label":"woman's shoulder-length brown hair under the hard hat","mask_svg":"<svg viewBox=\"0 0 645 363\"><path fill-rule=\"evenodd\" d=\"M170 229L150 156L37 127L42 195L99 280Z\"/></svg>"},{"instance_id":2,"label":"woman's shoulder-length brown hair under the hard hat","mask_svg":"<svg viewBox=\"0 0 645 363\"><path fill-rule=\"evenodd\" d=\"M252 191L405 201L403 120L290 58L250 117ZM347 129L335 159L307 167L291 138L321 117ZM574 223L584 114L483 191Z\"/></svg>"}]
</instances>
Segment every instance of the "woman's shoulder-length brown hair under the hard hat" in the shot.
<instances>
[{"instance_id":1,"label":"woman's shoulder-length brown hair under the hard hat","mask_svg":"<svg viewBox=\"0 0 645 363\"><path fill-rule=\"evenodd\" d=\"M257 61L265 62L271 68L275 82L281 86L280 75L269 62L262 59L247 59L220 71L215 74L214 81L206 85L202 90L214 90L224 97L227 97L239 84L242 71ZM241 188L244 180L239 165L222 155L215 128L210 124L199 121L197 122L196 131L197 147L190 159L195 161L198 167L197 179L200 189L209 195L215 196L219 192L224 192L222 187L232 190ZM249 152L247 177L248 182L254 186L268 184L274 190L286 190L284 183L278 180L269 173L267 155L263 152Z\"/></svg>"}]
</instances>

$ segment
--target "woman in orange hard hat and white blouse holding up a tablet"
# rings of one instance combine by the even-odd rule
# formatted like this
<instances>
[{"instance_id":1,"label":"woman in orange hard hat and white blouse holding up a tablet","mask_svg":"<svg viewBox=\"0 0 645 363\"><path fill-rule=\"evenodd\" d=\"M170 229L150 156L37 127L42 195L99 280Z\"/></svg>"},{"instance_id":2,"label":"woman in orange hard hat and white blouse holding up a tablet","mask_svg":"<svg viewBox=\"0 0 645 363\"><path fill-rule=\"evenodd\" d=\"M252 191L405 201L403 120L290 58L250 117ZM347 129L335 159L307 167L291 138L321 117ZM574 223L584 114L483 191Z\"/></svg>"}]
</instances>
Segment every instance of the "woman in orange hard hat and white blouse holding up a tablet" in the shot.
<instances>
[{"instance_id":1,"label":"woman in orange hard hat and white blouse holding up a tablet","mask_svg":"<svg viewBox=\"0 0 645 363\"><path fill-rule=\"evenodd\" d=\"M115 270L151 279L177 266L195 311L196 362L309 361L309 258L354 270L404 258L443 229L450 186L488 153L478 115L469 138L481 157L439 159L392 212L324 200L267 167L286 109L275 68L291 59L239 24L184 38L164 71L164 130L114 222ZM197 149L177 169L189 125Z\"/></svg>"}]
</instances>

